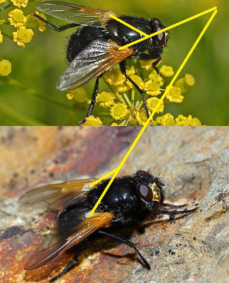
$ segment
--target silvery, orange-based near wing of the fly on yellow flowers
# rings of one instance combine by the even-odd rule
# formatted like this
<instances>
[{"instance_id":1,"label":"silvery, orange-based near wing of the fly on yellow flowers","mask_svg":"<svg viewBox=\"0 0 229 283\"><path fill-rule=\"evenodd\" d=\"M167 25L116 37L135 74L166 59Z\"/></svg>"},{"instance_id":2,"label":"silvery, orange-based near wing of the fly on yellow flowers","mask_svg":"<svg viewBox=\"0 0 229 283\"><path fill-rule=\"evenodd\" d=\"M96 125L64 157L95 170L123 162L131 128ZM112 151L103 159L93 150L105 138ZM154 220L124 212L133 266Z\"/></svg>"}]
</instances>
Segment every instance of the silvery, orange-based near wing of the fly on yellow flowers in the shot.
<instances>
[{"instance_id":1,"label":"silvery, orange-based near wing of the fly on yellow flowers","mask_svg":"<svg viewBox=\"0 0 229 283\"><path fill-rule=\"evenodd\" d=\"M57 89L65 91L80 87L133 54L131 48L119 50L120 47L111 39L93 41L70 62Z\"/></svg>"}]
</instances>

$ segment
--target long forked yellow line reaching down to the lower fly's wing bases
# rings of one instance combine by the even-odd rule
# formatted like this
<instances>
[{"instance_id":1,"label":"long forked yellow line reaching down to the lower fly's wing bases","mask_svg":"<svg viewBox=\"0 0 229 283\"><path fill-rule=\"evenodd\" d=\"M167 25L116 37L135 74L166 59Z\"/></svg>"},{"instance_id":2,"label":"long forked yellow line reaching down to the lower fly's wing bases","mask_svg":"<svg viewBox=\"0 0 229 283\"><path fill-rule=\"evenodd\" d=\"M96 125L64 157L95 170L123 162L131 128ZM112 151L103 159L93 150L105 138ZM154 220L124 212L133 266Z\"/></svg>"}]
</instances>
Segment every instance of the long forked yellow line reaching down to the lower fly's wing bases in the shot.
<instances>
[{"instance_id":1,"label":"long forked yellow line reaching down to the lower fly's wing bases","mask_svg":"<svg viewBox=\"0 0 229 283\"><path fill-rule=\"evenodd\" d=\"M109 189L111 183L113 182L113 180L116 178L117 174L119 173L120 169L122 168L123 164L126 162L127 158L129 157L131 151L133 150L133 148L135 147L135 145L137 144L139 138L141 137L142 133L144 132L145 128L148 126L149 122L151 121L152 117L155 115L156 111L158 110L158 108L160 107L163 99L165 98L166 94L169 92L170 88L172 87L173 83L175 82L176 78L178 77L178 75L180 74L182 68L184 67L184 65L186 64L188 58L190 57L190 55L193 53L194 49L196 48L197 44L199 43L200 39L203 37L203 34L205 33L206 29L208 28L209 24L211 23L211 21L213 20L215 14L217 13L217 8L214 7L212 10L215 10L213 12L213 14L211 15L210 19L208 20L207 24L205 25L205 27L203 28L203 30L201 31L198 39L196 40L196 42L194 43L193 47L190 49L190 51L188 52L187 56L185 57L185 59L183 60L182 64L180 65L179 69L177 70L176 74L174 75L172 81L170 82L169 86L166 88L164 94L162 95L161 99L158 101L158 104L156 105L155 109L152 111L152 113L150 114L148 120L145 122L144 126L142 127L141 131L139 132L139 134L137 135L137 137L135 138L132 146L130 147L130 149L128 150L127 154L124 156L122 162L120 163L120 165L116 168L113 169L112 171L110 171L109 173L105 174L103 177L101 177L100 179L98 179L97 181L93 182L92 184L90 184L90 187L98 184L100 181L102 181L103 179L105 179L107 176L111 175L112 173L113 176L110 179L110 182L108 183L108 185L106 186L105 190L103 191L102 195L100 196L100 198L98 199L98 201L96 202L95 206L93 207L93 209L90 212L90 215L92 216L93 213L95 212L95 209L97 208L97 206L99 205L100 201L102 200L103 196L105 195L105 193L107 192L107 190ZM209 10L208 10L209 11Z\"/></svg>"}]
</instances>

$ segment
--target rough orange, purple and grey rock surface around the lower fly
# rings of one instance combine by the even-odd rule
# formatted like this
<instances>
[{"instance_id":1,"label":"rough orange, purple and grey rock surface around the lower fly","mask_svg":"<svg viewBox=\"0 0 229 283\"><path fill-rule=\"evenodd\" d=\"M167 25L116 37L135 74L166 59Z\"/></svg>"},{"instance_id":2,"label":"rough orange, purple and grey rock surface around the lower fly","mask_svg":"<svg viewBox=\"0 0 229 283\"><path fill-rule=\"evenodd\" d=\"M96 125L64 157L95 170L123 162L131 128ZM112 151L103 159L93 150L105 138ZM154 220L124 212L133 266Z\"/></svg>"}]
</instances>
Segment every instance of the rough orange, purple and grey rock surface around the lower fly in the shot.
<instances>
[{"instance_id":1,"label":"rough orange, purple and grey rock surface around the lower fly","mask_svg":"<svg viewBox=\"0 0 229 283\"><path fill-rule=\"evenodd\" d=\"M18 197L54 180L99 178L119 166L138 133L134 127L0 128L1 282L47 282L74 255L23 270L53 216L20 207ZM227 127L146 128L120 174L161 171L166 202L198 211L173 220L152 215L120 232L139 243L150 271L129 247L102 238L57 282L228 282L228 140Z\"/></svg>"}]
</instances>

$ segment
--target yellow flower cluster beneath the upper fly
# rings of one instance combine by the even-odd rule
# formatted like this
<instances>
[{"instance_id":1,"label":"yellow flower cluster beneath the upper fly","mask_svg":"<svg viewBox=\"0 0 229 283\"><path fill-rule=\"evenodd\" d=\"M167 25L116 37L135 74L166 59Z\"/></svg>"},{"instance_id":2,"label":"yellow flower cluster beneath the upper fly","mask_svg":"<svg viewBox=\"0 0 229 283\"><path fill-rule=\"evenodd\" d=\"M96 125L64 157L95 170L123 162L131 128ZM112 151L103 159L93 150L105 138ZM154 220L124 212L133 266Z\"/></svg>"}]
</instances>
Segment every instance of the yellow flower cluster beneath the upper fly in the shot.
<instances>
[{"instance_id":1,"label":"yellow flower cluster beneath the upper fly","mask_svg":"<svg viewBox=\"0 0 229 283\"><path fill-rule=\"evenodd\" d=\"M161 96L168 87L163 87L166 77L173 76L174 72L172 67L162 65L160 74L158 74L152 67L152 60L134 61L134 65L127 69L127 75L144 91L146 105L150 114L152 111L155 111ZM142 80L141 77L145 79ZM103 79L109 90L102 91L96 97L97 107L95 107L94 114L96 113L100 118L90 116L86 119L84 125L144 125L148 119L144 110L142 97L132 83L126 80L120 69L112 68L108 70L103 75ZM165 99L160 101L160 105L155 111L155 116L157 117L155 120L151 120L149 125L201 125L201 122L191 115L188 117L178 115L177 118L174 118L170 113L165 113L166 105L182 102L184 99L183 93L190 86L193 86L194 83L193 76L189 74L177 80L169 89ZM90 99L88 99L84 88L71 91L67 94L67 97L68 99L74 98L78 102L85 101L86 103L90 103ZM102 122L101 119L104 121Z\"/></svg>"}]
</instances>

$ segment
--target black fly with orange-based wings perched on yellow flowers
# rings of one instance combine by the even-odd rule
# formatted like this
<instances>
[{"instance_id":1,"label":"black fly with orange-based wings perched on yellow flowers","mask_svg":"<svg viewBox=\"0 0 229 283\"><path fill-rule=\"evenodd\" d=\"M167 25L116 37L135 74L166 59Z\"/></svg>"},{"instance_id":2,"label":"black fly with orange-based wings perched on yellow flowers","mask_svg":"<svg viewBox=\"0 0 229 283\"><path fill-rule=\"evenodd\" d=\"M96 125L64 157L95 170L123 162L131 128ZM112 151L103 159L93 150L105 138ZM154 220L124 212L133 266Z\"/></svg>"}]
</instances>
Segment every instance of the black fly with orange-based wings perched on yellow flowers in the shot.
<instances>
[{"instance_id":1,"label":"black fly with orange-based wings perched on yellow flowers","mask_svg":"<svg viewBox=\"0 0 229 283\"><path fill-rule=\"evenodd\" d=\"M109 15L117 16L146 34L152 34L165 28L159 19L116 15L111 11L55 1L40 2L35 4L35 7L48 15L69 22L64 26L57 27L38 14L33 14L33 16L39 18L56 31L81 26L70 34L66 42L66 59L69 65L60 77L56 87L61 91L71 90L96 78L91 103L85 118L91 115L94 108L99 78L117 64L120 65L122 74L141 94L144 110L147 117L149 117L144 92L127 75L125 59L154 59L152 66L158 72L157 64L162 58L162 50L166 46L169 33L163 31L154 37L119 50L120 47L143 38L143 35ZM84 122L85 119L80 124Z\"/></svg>"}]
</instances>

